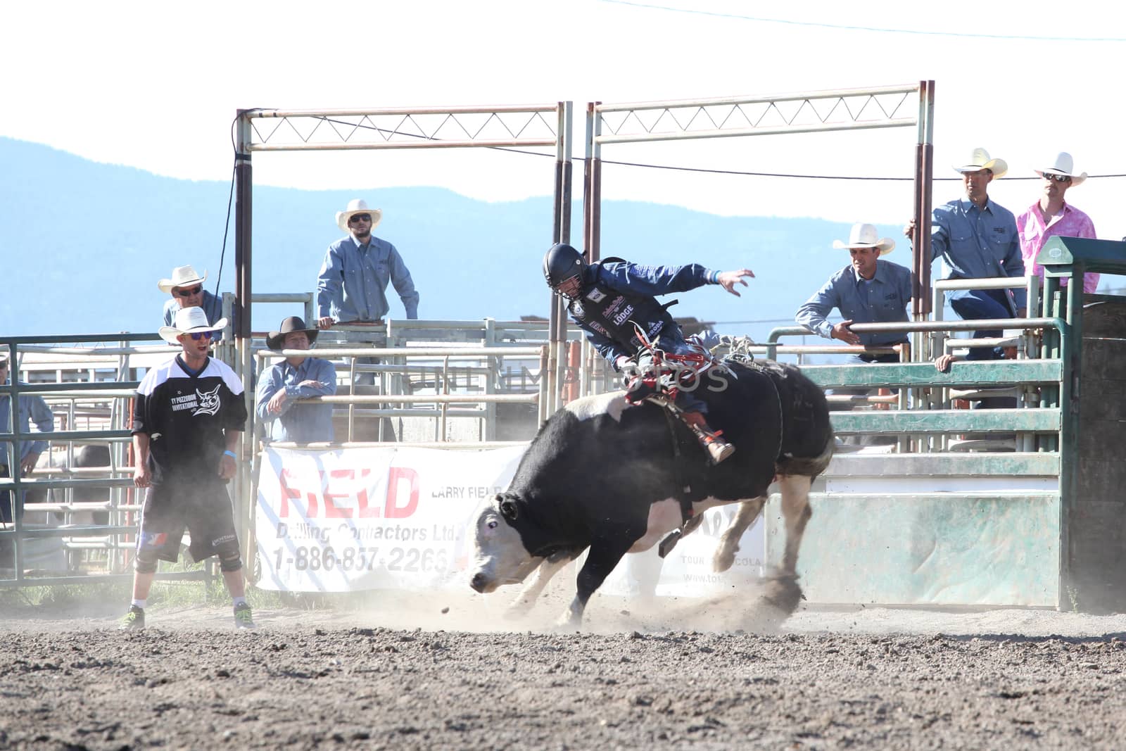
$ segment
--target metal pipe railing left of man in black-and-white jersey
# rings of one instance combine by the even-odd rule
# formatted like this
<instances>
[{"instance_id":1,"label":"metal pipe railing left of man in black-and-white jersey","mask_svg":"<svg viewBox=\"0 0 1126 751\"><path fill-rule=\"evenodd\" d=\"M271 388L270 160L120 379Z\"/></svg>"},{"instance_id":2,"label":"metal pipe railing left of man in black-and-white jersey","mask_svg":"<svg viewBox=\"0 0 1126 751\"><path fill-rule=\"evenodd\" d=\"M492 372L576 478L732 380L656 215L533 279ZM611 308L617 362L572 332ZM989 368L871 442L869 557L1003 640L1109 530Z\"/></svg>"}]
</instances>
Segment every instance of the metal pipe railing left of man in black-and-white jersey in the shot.
<instances>
[{"instance_id":1,"label":"metal pipe railing left of man in black-and-white jersey","mask_svg":"<svg viewBox=\"0 0 1126 751\"><path fill-rule=\"evenodd\" d=\"M12 421L0 427L10 430L0 433L6 456L14 470L11 476L0 480L0 490L7 491L14 510L10 526L0 528L0 538L10 540L11 558L0 562L11 565L0 573L0 584L43 585L77 581L105 581L127 579L131 537L136 534L141 502L134 498L129 453L129 400L136 394L137 368L150 367L167 359L167 346L134 345L158 339L157 334L115 333L59 337L2 337L0 347L8 350L11 384L0 386L0 394L8 394L11 404L25 399L43 399L51 409L53 422L64 424L45 432L25 432L18 411L11 410ZM99 346L115 342L113 346ZM96 345L82 347L83 343ZM55 378L84 372L88 377L106 376L100 381L65 381L43 383L36 374L52 372ZM29 382L23 383L26 373ZM62 374L66 374L65 376ZM79 422L84 429L78 429ZM36 467L27 474L18 471L19 447L27 440L47 442L47 466ZM75 447L96 442L108 449L108 462L101 466L75 467ZM61 466L60 466L61 463ZM90 491L104 490L104 499L80 500ZM38 500L42 493L42 499ZM101 493L99 493L101 494ZM30 498L29 498L30 497ZM75 498L79 497L79 498ZM25 521L26 516L43 515L43 522ZM98 522L93 515L104 515ZM28 570L28 545L35 540L51 543L47 553L61 554L63 562L48 555L48 564ZM98 555L100 553L100 555ZM96 556L96 557L90 557ZM77 573L92 570L93 573ZM162 573L161 579L200 580L211 575L206 569L189 572Z\"/></svg>"}]
</instances>

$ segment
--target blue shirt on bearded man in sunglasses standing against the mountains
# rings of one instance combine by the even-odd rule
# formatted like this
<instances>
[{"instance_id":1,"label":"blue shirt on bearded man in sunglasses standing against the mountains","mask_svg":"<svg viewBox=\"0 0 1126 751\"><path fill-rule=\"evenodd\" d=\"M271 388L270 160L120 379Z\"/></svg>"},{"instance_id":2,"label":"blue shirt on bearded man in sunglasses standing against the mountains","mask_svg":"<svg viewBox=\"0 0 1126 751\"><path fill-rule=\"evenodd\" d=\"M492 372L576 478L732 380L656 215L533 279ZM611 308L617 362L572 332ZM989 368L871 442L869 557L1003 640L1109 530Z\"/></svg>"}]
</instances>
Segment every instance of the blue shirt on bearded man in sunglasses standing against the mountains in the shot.
<instances>
[{"instance_id":1,"label":"blue shirt on bearded man in sunglasses standing against the mountains","mask_svg":"<svg viewBox=\"0 0 1126 751\"><path fill-rule=\"evenodd\" d=\"M419 293L402 256L386 240L373 236L360 245L351 235L329 245L316 278L316 315L338 323L378 321L391 305L387 285L394 285L408 319L419 316Z\"/></svg>"}]
</instances>

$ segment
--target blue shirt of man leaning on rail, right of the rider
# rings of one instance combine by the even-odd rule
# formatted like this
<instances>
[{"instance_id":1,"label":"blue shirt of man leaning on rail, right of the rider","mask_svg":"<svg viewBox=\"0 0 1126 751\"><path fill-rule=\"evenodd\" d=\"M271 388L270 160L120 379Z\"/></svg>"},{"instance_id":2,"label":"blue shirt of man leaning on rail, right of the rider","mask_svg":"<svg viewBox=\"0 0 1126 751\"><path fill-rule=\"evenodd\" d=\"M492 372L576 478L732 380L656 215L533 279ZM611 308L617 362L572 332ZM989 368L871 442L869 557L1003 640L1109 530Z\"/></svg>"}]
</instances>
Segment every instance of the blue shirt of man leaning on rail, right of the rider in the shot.
<instances>
[{"instance_id":1,"label":"blue shirt of man leaning on rail, right of the rider","mask_svg":"<svg viewBox=\"0 0 1126 751\"><path fill-rule=\"evenodd\" d=\"M877 260L872 279L861 279L851 263L829 278L821 289L797 309L795 320L810 331L831 339L833 324L826 316L835 307L854 323L901 323L908 320L911 269ZM863 345L892 345L906 339L902 332L860 333Z\"/></svg>"}]
</instances>

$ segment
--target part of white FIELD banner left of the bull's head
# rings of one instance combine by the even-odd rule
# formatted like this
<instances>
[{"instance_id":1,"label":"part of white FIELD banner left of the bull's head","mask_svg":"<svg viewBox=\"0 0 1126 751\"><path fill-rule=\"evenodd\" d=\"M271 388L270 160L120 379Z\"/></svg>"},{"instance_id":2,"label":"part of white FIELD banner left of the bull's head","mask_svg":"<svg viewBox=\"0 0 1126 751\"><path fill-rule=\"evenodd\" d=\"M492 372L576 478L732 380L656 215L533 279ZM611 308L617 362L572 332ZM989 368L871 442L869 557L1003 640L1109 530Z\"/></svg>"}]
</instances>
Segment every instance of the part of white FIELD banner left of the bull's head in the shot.
<instances>
[{"instance_id":1,"label":"part of white FIELD banner left of the bull's head","mask_svg":"<svg viewBox=\"0 0 1126 751\"><path fill-rule=\"evenodd\" d=\"M347 592L452 583L468 566L473 511L508 488L524 450L267 448L258 585Z\"/></svg>"}]
</instances>

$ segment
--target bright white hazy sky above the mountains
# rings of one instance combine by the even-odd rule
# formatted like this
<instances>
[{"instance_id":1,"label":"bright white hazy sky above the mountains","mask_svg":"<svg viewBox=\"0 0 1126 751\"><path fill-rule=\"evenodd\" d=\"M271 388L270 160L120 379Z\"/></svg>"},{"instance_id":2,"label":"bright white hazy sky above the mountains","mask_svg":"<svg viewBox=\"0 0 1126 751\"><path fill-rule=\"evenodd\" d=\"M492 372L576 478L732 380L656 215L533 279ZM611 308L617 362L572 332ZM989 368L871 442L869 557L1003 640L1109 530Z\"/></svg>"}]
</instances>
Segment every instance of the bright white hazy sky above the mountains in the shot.
<instances>
[{"instance_id":1,"label":"bright white hazy sky above the mountains","mask_svg":"<svg viewBox=\"0 0 1126 751\"><path fill-rule=\"evenodd\" d=\"M771 20L772 19L772 20ZM238 108L377 108L766 96L936 82L936 177L981 145L1035 177L1070 151L1126 173L1117 3L815 0L494 2L28 2L0 6L0 135L101 162L226 180ZM1106 35L1115 35L1107 38ZM915 131L607 146L607 160L795 175L910 178ZM477 198L546 195L552 160L441 150L256 154L254 179L298 188L438 185ZM64 190L64 187L61 187ZM1020 213L1039 182L991 196ZM941 182L935 200L960 193ZM1100 236L1126 235L1126 178L1069 193ZM899 224L911 184L607 167L606 198L717 214Z\"/></svg>"}]
</instances>

